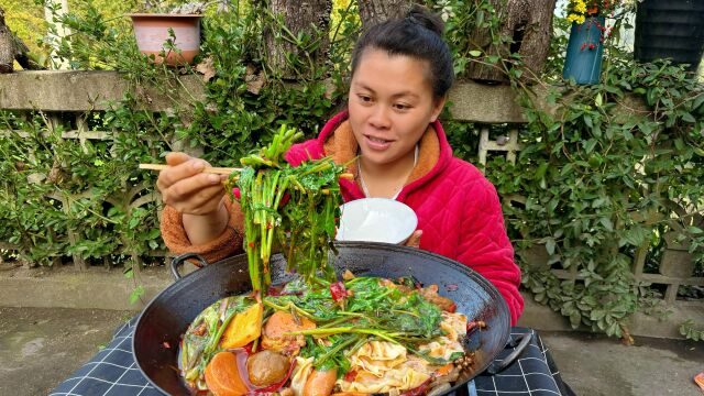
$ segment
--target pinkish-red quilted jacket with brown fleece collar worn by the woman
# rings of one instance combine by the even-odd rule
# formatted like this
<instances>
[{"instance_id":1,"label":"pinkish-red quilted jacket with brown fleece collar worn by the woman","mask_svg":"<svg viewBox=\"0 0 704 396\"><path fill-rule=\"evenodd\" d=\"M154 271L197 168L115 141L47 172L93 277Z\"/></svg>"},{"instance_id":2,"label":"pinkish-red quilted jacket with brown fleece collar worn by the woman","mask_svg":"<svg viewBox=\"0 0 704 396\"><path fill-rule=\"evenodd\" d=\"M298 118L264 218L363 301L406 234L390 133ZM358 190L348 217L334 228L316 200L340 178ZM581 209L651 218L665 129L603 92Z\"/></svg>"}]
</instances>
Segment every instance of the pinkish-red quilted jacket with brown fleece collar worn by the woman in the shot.
<instances>
[{"instance_id":1,"label":"pinkish-red quilted jacket with brown fleece collar worn by the woman","mask_svg":"<svg viewBox=\"0 0 704 396\"><path fill-rule=\"evenodd\" d=\"M353 158L356 142L345 120L346 112L337 114L318 139L294 145L286 160L298 165L326 155L340 164ZM364 198L356 167L349 170L355 180L340 180L345 202ZM418 229L424 231L420 249L457 260L486 277L504 296L515 324L524 310L520 268L514 263L496 189L476 167L452 156L440 122L421 139L418 164L397 200L418 216Z\"/></svg>"}]
</instances>

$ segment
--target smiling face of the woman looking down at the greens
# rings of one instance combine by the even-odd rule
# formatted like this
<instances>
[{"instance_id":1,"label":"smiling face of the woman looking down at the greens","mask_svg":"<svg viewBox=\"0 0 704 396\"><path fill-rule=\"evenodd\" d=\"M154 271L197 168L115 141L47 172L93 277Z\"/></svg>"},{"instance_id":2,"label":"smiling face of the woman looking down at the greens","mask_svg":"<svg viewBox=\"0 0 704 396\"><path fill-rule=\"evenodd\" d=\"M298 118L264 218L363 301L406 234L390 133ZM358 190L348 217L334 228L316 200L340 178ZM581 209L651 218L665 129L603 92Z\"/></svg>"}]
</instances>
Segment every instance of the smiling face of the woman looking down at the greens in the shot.
<instances>
[{"instance_id":1,"label":"smiling face of the woman looking down at the greens","mask_svg":"<svg viewBox=\"0 0 704 396\"><path fill-rule=\"evenodd\" d=\"M393 165L415 148L444 105L425 61L367 48L350 85L350 125L365 162Z\"/></svg>"}]
</instances>

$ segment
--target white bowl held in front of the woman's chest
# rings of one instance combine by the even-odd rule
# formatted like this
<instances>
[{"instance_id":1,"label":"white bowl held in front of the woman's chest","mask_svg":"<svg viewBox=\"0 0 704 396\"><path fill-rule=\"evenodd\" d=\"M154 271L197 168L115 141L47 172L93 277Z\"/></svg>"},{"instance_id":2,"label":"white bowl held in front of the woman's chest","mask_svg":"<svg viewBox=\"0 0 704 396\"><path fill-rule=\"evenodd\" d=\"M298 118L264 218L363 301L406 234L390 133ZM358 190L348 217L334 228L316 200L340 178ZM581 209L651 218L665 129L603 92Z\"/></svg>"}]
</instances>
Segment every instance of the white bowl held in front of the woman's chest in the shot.
<instances>
[{"instance_id":1,"label":"white bowl held in front of the woman's chest","mask_svg":"<svg viewBox=\"0 0 704 396\"><path fill-rule=\"evenodd\" d=\"M418 226L416 212L395 199L364 198L340 207L338 241L366 241L400 244Z\"/></svg>"}]
</instances>

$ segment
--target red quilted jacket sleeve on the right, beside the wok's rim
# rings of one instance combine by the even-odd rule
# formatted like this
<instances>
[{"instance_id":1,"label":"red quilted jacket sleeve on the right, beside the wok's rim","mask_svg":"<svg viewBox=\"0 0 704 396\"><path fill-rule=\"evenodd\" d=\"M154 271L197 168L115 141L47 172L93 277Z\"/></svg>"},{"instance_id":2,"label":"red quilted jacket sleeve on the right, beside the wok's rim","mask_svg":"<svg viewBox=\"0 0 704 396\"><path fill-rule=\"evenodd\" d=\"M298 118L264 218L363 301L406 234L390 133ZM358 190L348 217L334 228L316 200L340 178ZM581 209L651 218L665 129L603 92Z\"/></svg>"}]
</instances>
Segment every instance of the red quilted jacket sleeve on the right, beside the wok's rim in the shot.
<instances>
[{"instance_id":1,"label":"red quilted jacket sleeve on the right, beside the wok's rim","mask_svg":"<svg viewBox=\"0 0 704 396\"><path fill-rule=\"evenodd\" d=\"M458 261L496 286L508 305L514 326L524 310L524 298L518 292L520 268L514 262L496 189L480 177L471 182L466 199L471 202L464 206Z\"/></svg>"}]
</instances>

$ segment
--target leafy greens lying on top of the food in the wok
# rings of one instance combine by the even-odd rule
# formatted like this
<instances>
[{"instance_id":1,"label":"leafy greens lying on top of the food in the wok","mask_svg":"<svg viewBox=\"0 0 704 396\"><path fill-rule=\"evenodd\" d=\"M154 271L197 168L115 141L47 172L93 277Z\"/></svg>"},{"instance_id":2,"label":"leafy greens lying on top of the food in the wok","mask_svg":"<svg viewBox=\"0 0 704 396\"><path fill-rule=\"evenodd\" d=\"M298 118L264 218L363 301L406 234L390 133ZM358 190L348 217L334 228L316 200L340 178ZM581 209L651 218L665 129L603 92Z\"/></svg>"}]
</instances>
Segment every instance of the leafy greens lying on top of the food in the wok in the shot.
<instances>
[{"instance_id":1,"label":"leafy greens lying on top of the food in the wok","mask_svg":"<svg viewBox=\"0 0 704 396\"><path fill-rule=\"evenodd\" d=\"M292 332L306 334L302 356L314 356L320 369L349 370L348 356L370 340L400 344L437 364L447 363L418 352L418 345L442 336L440 309L415 288L404 289L377 277L358 277L345 283L351 292L344 309L323 287L307 286L300 295L268 296L264 304L278 309L294 309L318 323L316 329ZM322 343L319 339L326 339Z\"/></svg>"}]
</instances>

